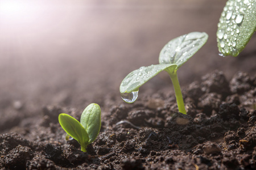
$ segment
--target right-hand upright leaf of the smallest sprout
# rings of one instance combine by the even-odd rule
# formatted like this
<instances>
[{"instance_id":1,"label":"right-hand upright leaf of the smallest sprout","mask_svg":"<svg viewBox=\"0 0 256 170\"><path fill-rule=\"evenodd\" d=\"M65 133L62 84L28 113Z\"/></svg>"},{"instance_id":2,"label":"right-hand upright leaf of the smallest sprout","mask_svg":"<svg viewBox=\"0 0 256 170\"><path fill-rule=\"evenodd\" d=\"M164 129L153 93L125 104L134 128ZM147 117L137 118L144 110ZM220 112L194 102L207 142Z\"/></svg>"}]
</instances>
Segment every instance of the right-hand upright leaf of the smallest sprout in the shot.
<instances>
[{"instance_id":1,"label":"right-hand upright leaf of the smallest sprout","mask_svg":"<svg viewBox=\"0 0 256 170\"><path fill-rule=\"evenodd\" d=\"M101 108L98 104L92 103L88 105L82 112L81 125L84 126L89 142L92 143L98 136L101 129Z\"/></svg>"}]
</instances>

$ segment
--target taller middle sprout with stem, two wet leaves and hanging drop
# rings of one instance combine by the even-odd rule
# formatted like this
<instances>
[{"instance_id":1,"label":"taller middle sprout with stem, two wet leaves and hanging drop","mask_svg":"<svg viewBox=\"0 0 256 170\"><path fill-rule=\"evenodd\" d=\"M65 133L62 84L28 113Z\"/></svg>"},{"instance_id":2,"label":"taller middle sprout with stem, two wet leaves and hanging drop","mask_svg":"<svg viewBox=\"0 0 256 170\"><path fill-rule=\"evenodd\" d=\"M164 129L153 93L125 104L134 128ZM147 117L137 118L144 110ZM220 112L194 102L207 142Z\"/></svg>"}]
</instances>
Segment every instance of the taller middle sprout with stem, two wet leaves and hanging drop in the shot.
<instances>
[{"instance_id":1,"label":"taller middle sprout with stem, two wet leaves and hanging drop","mask_svg":"<svg viewBox=\"0 0 256 170\"><path fill-rule=\"evenodd\" d=\"M205 44L207 39L208 35L205 32L191 32L168 42L160 52L159 65L141 67L123 79L119 89L122 99L127 103L133 103L138 97L139 87L165 70L174 85L179 112L187 114L177 79L177 70Z\"/></svg>"}]
</instances>

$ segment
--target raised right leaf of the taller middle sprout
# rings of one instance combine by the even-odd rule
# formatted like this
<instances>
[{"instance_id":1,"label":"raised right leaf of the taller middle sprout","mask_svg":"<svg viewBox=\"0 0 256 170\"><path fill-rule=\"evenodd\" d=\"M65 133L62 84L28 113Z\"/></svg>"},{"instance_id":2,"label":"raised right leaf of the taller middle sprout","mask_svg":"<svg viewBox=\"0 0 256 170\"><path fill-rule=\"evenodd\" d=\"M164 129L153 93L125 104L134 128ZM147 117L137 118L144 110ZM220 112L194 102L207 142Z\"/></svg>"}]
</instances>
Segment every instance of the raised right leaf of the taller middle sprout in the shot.
<instances>
[{"instance_id":1,"label":"raised right leaf of the taller middle sprout","mask_svg":"<svg viewBox=\"0 0 256 170\"><path fill-rule=\"evenodd\" d=\"M176 71L207 42L207 39L208 35L205 32L191 32L179 36L163 47L159 55L159 63L174 63L177 65Z\"/></svg>"}]
</instances>

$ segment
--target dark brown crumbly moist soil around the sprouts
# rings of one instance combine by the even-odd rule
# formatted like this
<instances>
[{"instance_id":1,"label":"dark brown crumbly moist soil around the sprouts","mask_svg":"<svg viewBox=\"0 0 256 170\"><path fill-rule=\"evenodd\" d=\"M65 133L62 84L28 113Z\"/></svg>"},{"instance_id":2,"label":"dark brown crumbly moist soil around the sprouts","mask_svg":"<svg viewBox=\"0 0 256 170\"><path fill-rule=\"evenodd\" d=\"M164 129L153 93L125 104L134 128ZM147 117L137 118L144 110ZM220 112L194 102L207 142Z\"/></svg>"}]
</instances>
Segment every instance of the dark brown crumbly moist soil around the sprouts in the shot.
<instances>
[{"instance_id":1,"label":"dark brown crumbly moist soil around the sprouts","mask_svg":"<svg viewBox=\"0 0 256 170\"><path fill-rule=\"evenodd\" d=\"M256 78L228 81L213 71L183 88L187 115L173 92L141 95L134 104L106 100L97 139L82 152L65 141L57 117L75 108L48 105L29 117L19 102L1 118L1 169L255 169ZM108 96L107 96L108 97ZM16 126L13 126L16 125Z\"/></svg>"}]
</instances>

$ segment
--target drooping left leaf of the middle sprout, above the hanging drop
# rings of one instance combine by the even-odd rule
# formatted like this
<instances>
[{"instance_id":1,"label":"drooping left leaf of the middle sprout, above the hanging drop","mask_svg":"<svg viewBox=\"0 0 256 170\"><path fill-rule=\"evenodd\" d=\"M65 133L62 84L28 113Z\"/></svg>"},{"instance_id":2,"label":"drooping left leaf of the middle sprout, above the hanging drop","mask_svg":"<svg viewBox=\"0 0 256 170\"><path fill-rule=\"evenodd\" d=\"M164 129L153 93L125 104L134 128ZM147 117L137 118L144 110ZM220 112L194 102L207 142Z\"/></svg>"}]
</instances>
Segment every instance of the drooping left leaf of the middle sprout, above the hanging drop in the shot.
<instances>
[{"instance_id":1,"label":"drooping left leaf of the middle sprout, above the hanging drop","mask_svg":"<svg viewBox=\"0 0 256 170\"><path fill-rule=\"evenodd\" d=\"M132 71L123 79L119 90L121 94L138 91L139 87L161 71L165 69L174 71L176 67L177 65L172 63L141 67L138 70Z\"/></svg>"}]
</instances>

